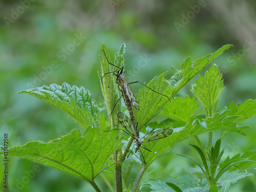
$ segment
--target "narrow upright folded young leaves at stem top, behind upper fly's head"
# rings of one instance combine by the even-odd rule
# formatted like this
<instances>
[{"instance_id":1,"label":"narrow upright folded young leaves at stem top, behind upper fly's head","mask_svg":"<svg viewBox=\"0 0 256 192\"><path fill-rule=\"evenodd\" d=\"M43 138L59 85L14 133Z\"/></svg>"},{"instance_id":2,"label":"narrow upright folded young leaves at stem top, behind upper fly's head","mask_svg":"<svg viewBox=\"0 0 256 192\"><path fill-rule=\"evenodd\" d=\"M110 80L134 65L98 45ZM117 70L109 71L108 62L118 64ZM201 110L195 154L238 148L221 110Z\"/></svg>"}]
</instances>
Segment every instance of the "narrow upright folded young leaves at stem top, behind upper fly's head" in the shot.
<instances>
[{"instance_id":1,"label":"narrow upright folded young leaves at stem top, behind upper fly's head","mask_svg":"<svg viewBox=\"0 0 256 192\"><path fill-rule=\"evenodd\" d=\"M123 66L123 60L124 60L123 54L126 48L125 48L125 44L122 44L119 52L115 54L114 63L117 67L114 67L109 64L108 60L110 61L110 56L106 52L106 47L104 46L104 44L102 44L101 49L103 50L102 57L101 56L99 57L101 61L102 73L100 74L98 72L98 76L100 79L101 90L102 90L103 97L106 104L106 110L110 115L112 113L112 110L114 109L114 106L116 108L116 111L121 111L121 102L116 104L118 99L121 97L121 92L118 90L118 86L116 83L116 76L113 75L113 72L118 70L117 67L120 68ZM106 59L106 57L108 58L108 60ZM115 111L113 111L112 115L110 116L111 127L117 126L119 124L117 116L114 114L115 114Z\"/></svg>"}]
</instances>

